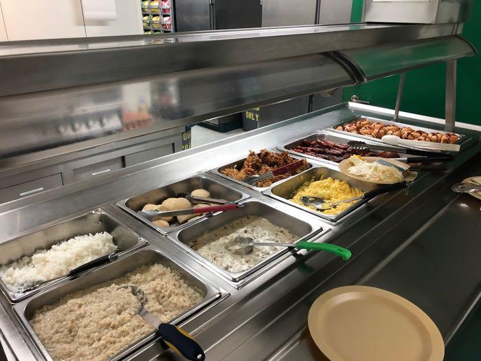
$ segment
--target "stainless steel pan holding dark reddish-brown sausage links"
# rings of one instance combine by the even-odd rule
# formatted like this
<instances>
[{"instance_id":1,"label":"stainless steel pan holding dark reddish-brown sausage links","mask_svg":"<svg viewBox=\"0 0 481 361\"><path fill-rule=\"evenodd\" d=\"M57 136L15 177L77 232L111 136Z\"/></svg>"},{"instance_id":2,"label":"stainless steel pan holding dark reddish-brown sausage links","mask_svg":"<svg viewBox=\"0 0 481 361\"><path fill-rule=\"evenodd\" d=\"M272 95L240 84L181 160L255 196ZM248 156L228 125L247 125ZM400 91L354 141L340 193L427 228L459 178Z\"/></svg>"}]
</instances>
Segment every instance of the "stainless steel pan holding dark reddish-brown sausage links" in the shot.
<instances>
[{"instance_id":1,"label":"stainless steel pan holding dark reddish-brown sausage links","mask_svg":"<svg viewBox=\"0 0 481 361\"><path fill-rule=\"evenodd\" d=\"M346 133L346 132L344 132L344 133ZM287 144L278 147L278 149L280 149L281 151L287 151L291 154L298 155L299 157L306 157L308 159L315 160L317 162L322 162L322 163L332 164L334 166L337 166L339 164L338 162L333 162L331 160L325 160L325 159L322 159L320 157L314 157L313 155L308 155L308 154L298 153L296 151L293 151L293 149L295 149L295 147L297 147L301 144L302 140L308 140L308 141L326 140L327 142L333 142L333 143L338 143L338 144L348 144L348 142L350 142L351 140L359 141L359 138L355 138L353 136L344 135L344 134L342 134L342 135L341 134L335 134L335 133L331 133L331 132L328 132L328 131L319 131L317 133L308 135L307 137L296 138L295 140L290 140L289 142L287 142ZM366 144L373 144L373 143L372 142L366 142ZM388 145L386 144L386 146L388 146ZM395 148L396 147L392 146L392 151L395 151L396 153L399 153L399 155L401 157L412 157L413 156L413 155L400 153L399 151L396 151ZM380 152L381 151L377 151L377 152L374 152L374 153L380 153Z\"/></svg>"}]
</instances>

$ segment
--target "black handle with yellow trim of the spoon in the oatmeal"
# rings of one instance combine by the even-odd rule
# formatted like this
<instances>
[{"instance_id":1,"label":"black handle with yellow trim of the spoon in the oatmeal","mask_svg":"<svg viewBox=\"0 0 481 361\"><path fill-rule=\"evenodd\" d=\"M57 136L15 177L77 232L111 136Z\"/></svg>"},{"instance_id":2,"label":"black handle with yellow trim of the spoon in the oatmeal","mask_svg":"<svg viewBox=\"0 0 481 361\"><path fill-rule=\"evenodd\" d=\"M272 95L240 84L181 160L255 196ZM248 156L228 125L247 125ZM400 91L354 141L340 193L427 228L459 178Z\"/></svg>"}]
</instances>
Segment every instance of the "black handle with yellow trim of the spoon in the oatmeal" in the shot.
<instances>
[{"instance_id":1,"label":"black handle with yellow trim of the spoon in the oatmeal","mask_svg":"<svg viewBox=\"0 0 481 361\"><path fill-rule=\"evenodd\" d=\"M157 329L159 336L166 342L168 347L183 355L183 357L192 361L205 360L205 353L202 347L192 336L180 327L170 325L170 323L161 323Z\"/></svg>"}]
</instances>

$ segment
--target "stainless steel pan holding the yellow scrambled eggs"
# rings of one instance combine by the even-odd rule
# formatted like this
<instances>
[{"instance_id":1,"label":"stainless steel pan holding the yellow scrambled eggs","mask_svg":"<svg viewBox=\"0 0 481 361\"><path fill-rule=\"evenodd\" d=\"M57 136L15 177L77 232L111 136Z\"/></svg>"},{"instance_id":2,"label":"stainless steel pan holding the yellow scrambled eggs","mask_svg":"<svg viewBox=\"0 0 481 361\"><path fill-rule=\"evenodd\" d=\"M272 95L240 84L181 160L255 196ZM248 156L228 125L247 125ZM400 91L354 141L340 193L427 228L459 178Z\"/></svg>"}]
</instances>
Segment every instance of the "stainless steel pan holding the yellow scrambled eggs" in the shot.
<instances>
[{"instance_id":1,"label":"stainless steel pan holding the yellow scrambled eggs","mask_svg":"<svg viewBox=\"0 0 481 361\"><path fill-rule=\"evenodd\" d=\"M268 195L269 197L273 197L274 199L278 199L280 201L283 201L284 203L294 206L295 208L305 210L306 212L309 212L312 215L316 215L317 217L327 219L328 221L338 221L339 219L348 215L348 213L352 212L353 210L355 210L355 208L361 206L361 204L365 202L363 200L358 201L356 204L344 210L344 212L338 213L337 215L323 215L320 212L316 212L315 210L311 210L310 208L300 206L300 204L294 203L293 201L289 201L294 191L300 188L305 182L310 182L312 179L319 180L321 177L324 177L324 178L332 177L333 179L346 181L350 186L358 188L363 193L366 193L369 190L373 190L375 188L379 188L377 184L363 182L358 179L351 178L348 175L345 175L339 171L335 171L334 169L331 169L331 168L315 167L315 168L308 169L307 171L304 171L299 175L296 175L295 177L284 180L283 182L280 182L279 184L272 186L271 188L269 188L263 193L265 195Z\"/></svg>"}]
</instances>

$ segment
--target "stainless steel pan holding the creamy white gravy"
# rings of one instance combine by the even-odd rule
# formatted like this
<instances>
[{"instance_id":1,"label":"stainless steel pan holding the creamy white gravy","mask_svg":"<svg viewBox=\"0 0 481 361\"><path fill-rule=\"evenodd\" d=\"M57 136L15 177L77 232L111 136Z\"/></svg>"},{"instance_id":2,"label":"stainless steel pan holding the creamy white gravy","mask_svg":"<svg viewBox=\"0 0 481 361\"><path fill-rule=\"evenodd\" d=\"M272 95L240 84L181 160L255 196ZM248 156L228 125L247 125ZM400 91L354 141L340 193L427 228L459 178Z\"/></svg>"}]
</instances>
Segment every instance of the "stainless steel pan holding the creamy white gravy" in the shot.
<instances>
[{"instance_id":1,"label":"stainless steel pan holding the creamy white gravy","mask_svg":"<svg viewBox=\"0 0 481 361\"><path fill-rule=\"evenodd\" d=\"M210 267L210 269L214 270L214 272L221 274L221 276L232 282L238 282L243 280L243 278L249 274L256 272L256 270L259 270L261 267L271 263L281 254L288 252L288 250L281 250L276 254L272 254L264 261L258 263L254 267L251 267L249 270L243 272L229 272L227 270L223 270L221 267L215 265L208 259L205 259L203 256L201 256L199 253L192 250L192 248L188 246L188 243L201 236L201 234L208 232L208 230L220 228L227 223L231 223L236 219L240 219L249 215L263 217L277 226L286 228L293 234L298 235L299 241L312 239L315 235L320 234L323 231L327 231L309 219L298 219L285 212L282 212L281 210L273 208L273 206L269 206L263 201L248 199L246 201L242 201L241 204L243 204L243 207L239 208L238 210L232 212L223 212L223 214L216 217L204 219L195 225L177 232L177 234L171 234L170 237L172 237L177 244L181 245L182 248L186 249L187 252L192 254L192 256L194 256L194 258L197 259L197 261L199 261L201 264L205 265L206 267Z\"/></svg>"}]
</instances>

